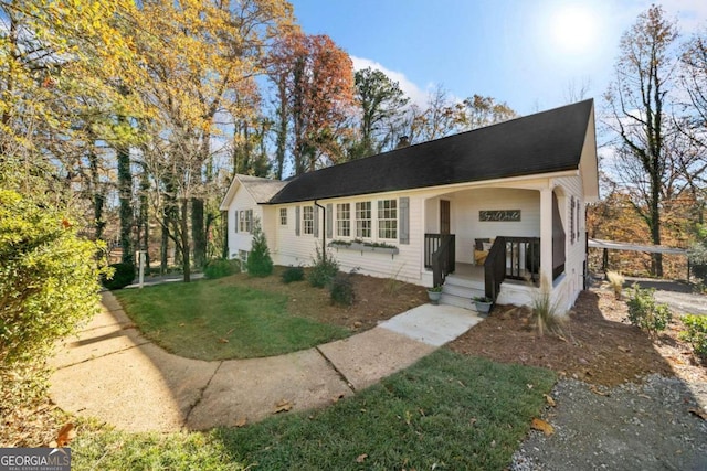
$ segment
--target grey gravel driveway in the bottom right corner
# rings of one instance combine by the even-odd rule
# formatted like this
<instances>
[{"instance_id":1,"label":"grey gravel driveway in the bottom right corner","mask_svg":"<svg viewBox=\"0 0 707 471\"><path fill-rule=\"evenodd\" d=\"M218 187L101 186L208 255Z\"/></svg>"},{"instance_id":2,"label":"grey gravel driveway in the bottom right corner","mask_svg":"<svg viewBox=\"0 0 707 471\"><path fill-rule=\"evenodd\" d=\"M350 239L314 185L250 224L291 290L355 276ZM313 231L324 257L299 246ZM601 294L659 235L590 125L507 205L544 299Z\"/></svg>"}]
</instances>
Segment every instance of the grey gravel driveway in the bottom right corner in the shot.
<instances>
[{"instance_id":1,"label":"grey gravel driveway in the bottom right corner","mask_svg":"<svg viewBox=\"0 0 707 471\"><path fill-rule=\"evenodd\" d=\"M707 385L690 386L707 398ZM562 379L551 395L544 419L555 433L531 431L511 470L707 470L707 421L689 411L699 406L678 378L611 389Z\"/></svg>"}]
</instances>

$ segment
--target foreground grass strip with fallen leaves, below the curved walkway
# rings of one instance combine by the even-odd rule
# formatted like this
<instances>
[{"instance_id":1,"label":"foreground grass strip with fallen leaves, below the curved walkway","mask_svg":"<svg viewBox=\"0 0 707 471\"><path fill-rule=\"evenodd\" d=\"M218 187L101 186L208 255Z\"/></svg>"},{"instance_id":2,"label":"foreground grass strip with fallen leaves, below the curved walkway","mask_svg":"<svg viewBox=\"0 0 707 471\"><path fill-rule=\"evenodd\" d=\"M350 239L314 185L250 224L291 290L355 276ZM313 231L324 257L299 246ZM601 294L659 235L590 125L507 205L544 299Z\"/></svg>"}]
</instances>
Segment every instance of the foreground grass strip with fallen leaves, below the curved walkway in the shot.
<instances>
[{"instance_id":1,"label":"foreground grass strip with fallen leaves, below the curved walkway","mask_svg":"<svg viewBox=\"0 0 707 471\"><path fill-rule=\"evenodd\" d=\"M441 350L328 408L245 428L167 435L80 430L72 464L76 470L500 470L555 381L548 370Z\"/></svg>"}]
</instances>

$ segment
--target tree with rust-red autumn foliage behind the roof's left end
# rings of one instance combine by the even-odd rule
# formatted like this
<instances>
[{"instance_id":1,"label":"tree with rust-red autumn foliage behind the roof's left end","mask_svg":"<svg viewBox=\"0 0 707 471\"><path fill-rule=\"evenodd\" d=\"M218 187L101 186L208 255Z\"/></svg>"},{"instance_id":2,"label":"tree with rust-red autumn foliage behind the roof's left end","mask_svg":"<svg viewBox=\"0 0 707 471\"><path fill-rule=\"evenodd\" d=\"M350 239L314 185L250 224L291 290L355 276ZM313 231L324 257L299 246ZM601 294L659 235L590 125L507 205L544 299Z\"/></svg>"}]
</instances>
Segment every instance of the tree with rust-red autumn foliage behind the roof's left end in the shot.
<instances>
[{"instance_id":1,"label":"tree with rust-red autumn foliage behind the roof's left end","mask_svg":"<svg viewBox=\"0 0 707 471\"><path fill-rule=\"evenodd\" d=\"M282 176L287 136L296 175L336 163L354 101L348 54L327 35L293 31L281 38L268 61L276 93L276 173Z\"/></svg>"}]
</instances>

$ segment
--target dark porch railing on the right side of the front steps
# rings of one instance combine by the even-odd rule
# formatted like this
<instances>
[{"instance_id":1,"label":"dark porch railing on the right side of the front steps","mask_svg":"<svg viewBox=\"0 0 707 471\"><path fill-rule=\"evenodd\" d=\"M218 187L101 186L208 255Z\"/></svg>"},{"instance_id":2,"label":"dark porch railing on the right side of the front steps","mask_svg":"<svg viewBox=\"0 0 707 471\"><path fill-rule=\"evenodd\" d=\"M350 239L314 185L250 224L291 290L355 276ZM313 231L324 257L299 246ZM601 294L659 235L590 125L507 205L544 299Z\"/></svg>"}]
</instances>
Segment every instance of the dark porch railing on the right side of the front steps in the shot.
<instances>
[{"instance_id":1,"label":"dark porch railing on the right side of the front steps","mask_svg":"<svg viewBox=\"0 0 707 471\"><path fill-rule=\"evenodd\" d=\"M484 263L484 289L494 301L505 279L530 280L540 272L539 237L496 237Z\"/></svg>"}]
</instances>

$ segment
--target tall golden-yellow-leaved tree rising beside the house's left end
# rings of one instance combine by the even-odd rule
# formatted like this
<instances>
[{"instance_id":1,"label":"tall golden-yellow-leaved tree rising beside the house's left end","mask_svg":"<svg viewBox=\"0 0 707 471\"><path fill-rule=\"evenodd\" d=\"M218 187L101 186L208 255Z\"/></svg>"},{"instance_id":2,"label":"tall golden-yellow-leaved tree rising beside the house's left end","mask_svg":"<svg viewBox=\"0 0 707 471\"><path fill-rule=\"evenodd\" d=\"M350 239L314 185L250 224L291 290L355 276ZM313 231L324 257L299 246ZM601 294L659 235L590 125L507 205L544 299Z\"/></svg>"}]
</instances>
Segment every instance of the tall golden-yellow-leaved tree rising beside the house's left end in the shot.
<instances>
[{"instance_id":1,"label":"tall golden-yellow-leaved tree rising beside the house's left end","mask_svg":"<svg viewBox=\"0 0 707 471\"><path fill-rule=\"evenodd\" d=\"M139 56L143 81L131 83L150 109L141 129L141 164L161 193L154 199L165 234L177 245L190 279L207 257L212 211L212 142L222 139L221 119L243 122L255 114L252 77L261 72L268 42L292 21L292 8L276 0L141 2L139 28L125 31ZM172 220L177 218L177 220ZM217 218L218 220L218 218ZM190 234L191 228L191 234Z\"/></svg>"}]
</instances>

